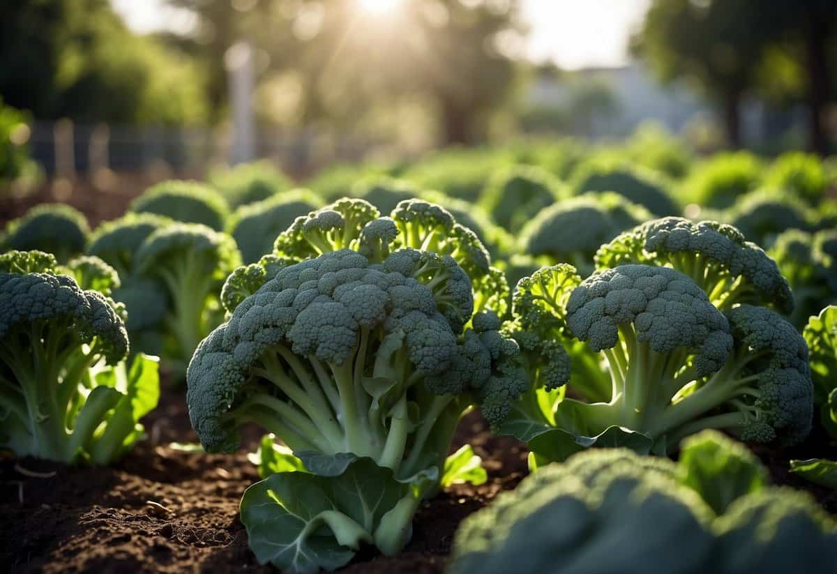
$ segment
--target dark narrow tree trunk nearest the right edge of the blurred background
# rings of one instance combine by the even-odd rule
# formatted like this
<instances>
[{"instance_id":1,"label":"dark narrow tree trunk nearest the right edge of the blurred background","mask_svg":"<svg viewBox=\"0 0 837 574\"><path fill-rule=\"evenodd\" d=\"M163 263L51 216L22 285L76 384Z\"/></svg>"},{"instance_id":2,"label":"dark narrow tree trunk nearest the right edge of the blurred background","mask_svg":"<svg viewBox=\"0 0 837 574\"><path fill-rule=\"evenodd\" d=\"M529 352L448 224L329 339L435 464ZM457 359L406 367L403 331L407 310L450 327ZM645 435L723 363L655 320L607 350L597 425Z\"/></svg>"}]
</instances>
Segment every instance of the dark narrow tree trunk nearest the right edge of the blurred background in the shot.
<instances>
[{"instance_id":1,"label":"dark narrow tree trunk nearest the right edge of the blurred background","mask_svg":"<svg viewBox=\"0 0 837 574\"><path fill-rule=\"evenodd\" d=\"M807 11L807 17L809 147L814 153L827 156L829 137L825 132L823 115L831 85L826 54L830 23L813 9Z\"/></svg>"}]
</instances>

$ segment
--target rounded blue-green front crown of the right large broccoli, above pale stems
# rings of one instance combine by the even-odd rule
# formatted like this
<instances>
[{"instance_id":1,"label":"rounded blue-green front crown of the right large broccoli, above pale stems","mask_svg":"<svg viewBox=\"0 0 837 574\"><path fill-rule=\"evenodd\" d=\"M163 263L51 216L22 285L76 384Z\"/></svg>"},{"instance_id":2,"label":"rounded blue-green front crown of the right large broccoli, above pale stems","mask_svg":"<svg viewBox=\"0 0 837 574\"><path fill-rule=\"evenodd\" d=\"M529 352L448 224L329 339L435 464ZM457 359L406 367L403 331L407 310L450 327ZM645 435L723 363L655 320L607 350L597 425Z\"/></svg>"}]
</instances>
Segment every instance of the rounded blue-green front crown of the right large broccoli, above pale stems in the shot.
<instances>
[{"instance_id":1,"label":"rounded blue-green front crown of the right large broccoli, above pale stems","mask_svg":"<svg viewBox=\"0 0 837 574\"><path fill-rule=\"evenodd\" d=\"M659 353L693 351L697 372L717 371L732 347L727 319L694 281L674 269L626 264L597 271L567 300L567 326L593 351L619 343L619 328Z\"/></svg>"}]
</instances>

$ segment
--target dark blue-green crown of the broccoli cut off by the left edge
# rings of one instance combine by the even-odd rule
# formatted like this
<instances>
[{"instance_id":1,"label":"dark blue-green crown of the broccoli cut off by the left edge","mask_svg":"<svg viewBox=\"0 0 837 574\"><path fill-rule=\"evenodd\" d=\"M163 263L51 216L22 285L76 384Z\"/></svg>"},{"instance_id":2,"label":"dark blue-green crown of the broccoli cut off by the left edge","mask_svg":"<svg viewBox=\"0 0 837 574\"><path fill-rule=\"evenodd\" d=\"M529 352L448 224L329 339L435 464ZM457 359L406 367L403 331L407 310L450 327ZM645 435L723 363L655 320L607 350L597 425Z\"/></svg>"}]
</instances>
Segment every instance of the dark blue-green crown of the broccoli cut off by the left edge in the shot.
<instances>
[{"instance_id":1,"label":"dark blue-green crown of the broccoli cut off by the left edge","mask_svg":"<svg viewBox=\"0 0 837 574\"><path fill-rule=\"evenodd\" d=\"M0 340L28 332L34 323L54 323L83 342L96 340L109 365L128 352L128 335L112 302L92 290L81 290L66 275L0 273Z\"/></svg>"}]
</instances>

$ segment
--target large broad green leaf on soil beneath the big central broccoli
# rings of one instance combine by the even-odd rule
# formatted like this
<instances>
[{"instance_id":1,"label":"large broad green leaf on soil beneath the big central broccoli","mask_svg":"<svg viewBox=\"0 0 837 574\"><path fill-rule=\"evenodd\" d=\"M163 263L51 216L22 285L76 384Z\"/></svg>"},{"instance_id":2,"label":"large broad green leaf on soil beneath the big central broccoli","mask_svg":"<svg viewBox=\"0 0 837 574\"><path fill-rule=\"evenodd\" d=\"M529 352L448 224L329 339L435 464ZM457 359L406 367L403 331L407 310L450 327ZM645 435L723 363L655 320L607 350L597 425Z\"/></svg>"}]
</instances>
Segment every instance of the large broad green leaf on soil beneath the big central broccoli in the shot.
<instances>
[{"instance_id":1,"label":"large broad green leaf on soil beneath the big central broccoli","mask_svg":"<svg viewBox=\"0 0 837 574\"><path fill-rule=\"evenodd\" d=\"M334 570L352 559L361 542L373 541L372 533L385 515L390 515L391 539L400 540L402 532L408 533L420 501L411 484L398 482L392 469L367 457L339 454L331 457L335 459L331 464L328 458L306 454L314 468L330 475L271 474L244 492L241 521L260 564L270 562L290 572ZM342 472L333 474L336 469ZM413 511L403 512L405 506Z\"/></svg>"}]
</instances>

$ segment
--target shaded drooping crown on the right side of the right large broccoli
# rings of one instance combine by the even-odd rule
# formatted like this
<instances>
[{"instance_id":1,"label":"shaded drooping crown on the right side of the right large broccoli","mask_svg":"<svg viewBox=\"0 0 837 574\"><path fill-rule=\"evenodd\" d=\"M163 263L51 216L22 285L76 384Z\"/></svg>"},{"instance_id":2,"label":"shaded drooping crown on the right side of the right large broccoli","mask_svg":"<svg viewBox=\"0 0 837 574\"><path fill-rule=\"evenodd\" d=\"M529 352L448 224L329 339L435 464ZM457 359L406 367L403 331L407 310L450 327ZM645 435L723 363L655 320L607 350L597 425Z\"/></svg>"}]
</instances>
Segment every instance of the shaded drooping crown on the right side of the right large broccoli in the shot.
<instances>
[{"instance_id":1,"label":"shaded drooping crown on the right side of the right large broccoli","mask_svg":"<svg viewBox=\"0 0 837 574\"><path fill-rule=\"evenodd\" d=\"M739 305L727 311L737 353L749 360L743 375L757 375L754 418L744 440L795 444L807 437L814 417L814 386L808 346L793 325L765 307Z\"/></svg>"}]
</instances>

